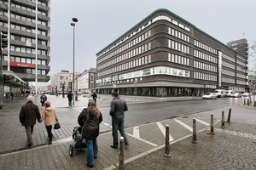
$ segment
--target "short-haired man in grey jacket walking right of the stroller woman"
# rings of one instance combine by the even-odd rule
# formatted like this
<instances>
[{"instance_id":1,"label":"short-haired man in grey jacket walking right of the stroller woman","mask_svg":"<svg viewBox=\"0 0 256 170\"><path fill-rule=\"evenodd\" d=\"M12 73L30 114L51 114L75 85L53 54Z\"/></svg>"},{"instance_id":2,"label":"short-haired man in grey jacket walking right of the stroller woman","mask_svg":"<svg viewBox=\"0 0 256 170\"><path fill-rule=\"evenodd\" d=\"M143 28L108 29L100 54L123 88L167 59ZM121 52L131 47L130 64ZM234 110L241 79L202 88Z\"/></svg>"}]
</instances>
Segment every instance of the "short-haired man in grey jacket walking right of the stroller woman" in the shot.
<instances>
[{"instance_id":1,"label":"short-haired man in grey jacket walking right of the stroller woman","mask_svg":"<svg viewBox=\"0 0 256 170\"><path fill-rule=\"evenodd\" d=\"M110 147L117 149L119 145L118 140L118 130L121 133L121 136L125 139L125 146L129 145L127 136L125 134L125 111L128 111L128 107L124 99L119 98L119 94L117 92L112 93L113 100L111 101L110 105L110 113L109 115L112 116L112 136L113 136L113 145Z\"/></svg>"}]
</instances>

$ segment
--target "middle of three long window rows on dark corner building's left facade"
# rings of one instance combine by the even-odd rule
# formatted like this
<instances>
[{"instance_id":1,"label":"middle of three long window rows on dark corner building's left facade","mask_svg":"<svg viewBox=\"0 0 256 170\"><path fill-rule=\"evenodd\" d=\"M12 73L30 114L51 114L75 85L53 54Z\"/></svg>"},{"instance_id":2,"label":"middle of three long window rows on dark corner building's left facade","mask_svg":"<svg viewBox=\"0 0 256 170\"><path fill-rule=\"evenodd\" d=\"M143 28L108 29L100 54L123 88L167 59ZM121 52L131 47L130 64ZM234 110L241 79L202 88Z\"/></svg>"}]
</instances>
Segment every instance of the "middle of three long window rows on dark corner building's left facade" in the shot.
<instances>
[{"instance_id":1,"label":"middle of three long window rows on dark corner building's left facade","mask_svg":"<svg viewBox=\"0 0 256 170\"><path fill-rule=\"evenodd\" d=\"M104 63L103 65L99 65L98 68L99 68L99 70L101 70L103 68L106 68L109 65L119 63L120 61L123 61L125 59L130 59L131 57L133 57L137 54L142 54L142 53L148 51L149 49L151 49L151 42L145 43L138 48L134 48L133 50L131 50L125 54L119 55L118 57L111 59L107 63Z\"/></svg>"}]
</instances>

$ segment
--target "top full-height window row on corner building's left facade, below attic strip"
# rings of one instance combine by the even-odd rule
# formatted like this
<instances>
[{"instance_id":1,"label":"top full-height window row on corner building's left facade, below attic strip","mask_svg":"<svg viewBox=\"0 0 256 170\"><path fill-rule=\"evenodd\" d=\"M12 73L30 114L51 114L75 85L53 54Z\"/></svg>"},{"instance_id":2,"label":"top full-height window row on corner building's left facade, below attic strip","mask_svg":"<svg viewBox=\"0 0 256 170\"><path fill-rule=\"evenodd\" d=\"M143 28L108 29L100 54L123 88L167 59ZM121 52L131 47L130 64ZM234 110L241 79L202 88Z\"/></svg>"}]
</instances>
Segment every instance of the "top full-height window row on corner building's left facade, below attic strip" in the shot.
<instances>
[{"instance_id":1,"label":"top full-height window row on corner building's left facade, below attic strip","mask_svg":"<svg viewBox=\"0 0 256 170\"><path fill-rule=\"evenodd\" d=\"M132 46L136 45L139 42L142 42L144 39L147 39L150 36L151 36L151 31L149 30L149 31L145 32L142 36L131 40L131 42L126 43L125 45L121 46L120 48L117 48L116 50L114 50L112 53L106 55L104 58L99 59L98 63L101 63L102 61L113 57L115 54L121 53L122 51L124 51L127 48L131 48ZM148 48L148 47L145 47L145 48Z\"/></svg>"}]
</instances>

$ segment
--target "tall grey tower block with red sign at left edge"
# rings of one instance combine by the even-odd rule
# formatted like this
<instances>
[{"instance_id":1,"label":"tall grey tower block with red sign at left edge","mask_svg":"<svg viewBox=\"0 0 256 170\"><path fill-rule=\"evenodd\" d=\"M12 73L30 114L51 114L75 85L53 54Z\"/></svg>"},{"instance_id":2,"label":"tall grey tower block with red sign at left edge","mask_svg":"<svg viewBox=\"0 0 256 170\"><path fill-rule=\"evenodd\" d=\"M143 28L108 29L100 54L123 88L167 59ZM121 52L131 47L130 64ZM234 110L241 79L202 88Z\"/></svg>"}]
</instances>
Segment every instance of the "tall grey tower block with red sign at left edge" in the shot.
<instances>
[{"instance_id":1,"label":"tall grey tower block with red sign at left edge","mask_svg":"<svg viewBox=\"0 0 256 170\"><path fill-rule=\"evenodd\" d=\"M49 11L48 0L0 1L0 31L9 37L3 71L25 82L35 82L37 72L38 82L49 81Z\"/></svg>"}]
</instances>

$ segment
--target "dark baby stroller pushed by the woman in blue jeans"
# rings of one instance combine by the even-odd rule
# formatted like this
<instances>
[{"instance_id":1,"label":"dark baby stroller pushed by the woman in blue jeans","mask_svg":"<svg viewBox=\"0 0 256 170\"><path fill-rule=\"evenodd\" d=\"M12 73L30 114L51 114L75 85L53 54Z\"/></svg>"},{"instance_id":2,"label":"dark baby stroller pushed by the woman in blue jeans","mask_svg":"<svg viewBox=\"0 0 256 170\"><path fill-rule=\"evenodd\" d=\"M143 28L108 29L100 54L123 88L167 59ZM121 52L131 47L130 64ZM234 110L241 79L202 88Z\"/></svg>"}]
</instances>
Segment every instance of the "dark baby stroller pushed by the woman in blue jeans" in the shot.
<instances>
[{"instance_id":1,"label":"dark baby stroller pushed by the woman in blue jeans","mask_svg":"<svg viewBox=\"0 0 256 170\"><path fill-rule=\"evenodd\" d=\"M73 128L72 137L74 144L69 145L69 156L73 156L74 150L83 150L87 147L85 139L82 140L81 130L82 127Z\"/></svg>"}]
</instances>

